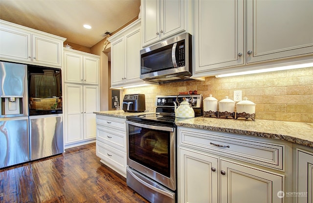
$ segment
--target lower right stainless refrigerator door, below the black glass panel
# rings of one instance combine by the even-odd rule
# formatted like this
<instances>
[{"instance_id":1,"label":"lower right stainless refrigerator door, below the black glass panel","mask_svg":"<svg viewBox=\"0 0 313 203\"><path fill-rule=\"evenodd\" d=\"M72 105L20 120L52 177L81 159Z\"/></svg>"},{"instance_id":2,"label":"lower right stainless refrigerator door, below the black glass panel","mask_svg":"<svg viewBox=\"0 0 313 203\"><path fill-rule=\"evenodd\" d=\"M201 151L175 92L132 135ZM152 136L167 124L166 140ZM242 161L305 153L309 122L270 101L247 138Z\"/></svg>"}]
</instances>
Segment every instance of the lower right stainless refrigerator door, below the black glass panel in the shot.
<instances>
[{"instance_id":1,"label":"lower right stainless refrigerator door, below the black glass panel","mask_svg":"<svg viewBox=\"0 0 313 203\"><path fill-rule=\"evenodd\" d=\"M64 152L62 114L29 116L30 159Z\"/></svg>"}]
</instances>

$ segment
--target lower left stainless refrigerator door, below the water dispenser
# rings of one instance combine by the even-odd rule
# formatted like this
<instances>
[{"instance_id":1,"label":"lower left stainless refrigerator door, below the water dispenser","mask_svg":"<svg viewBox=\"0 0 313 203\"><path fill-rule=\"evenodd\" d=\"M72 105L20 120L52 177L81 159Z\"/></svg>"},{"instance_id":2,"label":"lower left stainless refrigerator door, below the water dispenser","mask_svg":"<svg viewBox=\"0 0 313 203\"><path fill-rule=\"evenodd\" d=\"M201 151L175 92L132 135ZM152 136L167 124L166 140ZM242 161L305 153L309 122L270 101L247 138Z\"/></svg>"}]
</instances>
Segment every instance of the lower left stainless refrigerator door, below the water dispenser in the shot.
<instances>
[{"instance_id":1,"label":"lower left stainless refrigerator door, below the water dispenser","mask_svg":"<svg viewBox=\"0 0 313 203\"><path fill-rule=\"evenodd\" d=\"M0 118L0 168L29 161L28 116Z\"/></svg>"}]
</instances>

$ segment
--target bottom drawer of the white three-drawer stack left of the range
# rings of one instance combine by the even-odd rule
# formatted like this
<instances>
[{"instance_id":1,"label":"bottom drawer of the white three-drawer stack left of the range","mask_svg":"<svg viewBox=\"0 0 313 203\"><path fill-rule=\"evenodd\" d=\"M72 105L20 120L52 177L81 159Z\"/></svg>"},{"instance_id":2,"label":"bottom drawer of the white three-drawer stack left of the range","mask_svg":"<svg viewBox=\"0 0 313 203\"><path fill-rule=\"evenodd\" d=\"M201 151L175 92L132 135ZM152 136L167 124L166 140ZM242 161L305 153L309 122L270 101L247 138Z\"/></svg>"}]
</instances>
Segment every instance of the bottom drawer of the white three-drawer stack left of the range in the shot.
<instances>
[{"instance_id":1,"label":"bottom drawer of the white three-drawer stack left of the range","mask_svg":"<svg viewBox=\"0 0 313 203\"><path fill-rule=\"evenodd\" d=\"M126 154L112 147L96 141L96 155L104 162L108 163L126 174ZM114 168L112 168L115 170Z\"/></svg>"}]
</instances>

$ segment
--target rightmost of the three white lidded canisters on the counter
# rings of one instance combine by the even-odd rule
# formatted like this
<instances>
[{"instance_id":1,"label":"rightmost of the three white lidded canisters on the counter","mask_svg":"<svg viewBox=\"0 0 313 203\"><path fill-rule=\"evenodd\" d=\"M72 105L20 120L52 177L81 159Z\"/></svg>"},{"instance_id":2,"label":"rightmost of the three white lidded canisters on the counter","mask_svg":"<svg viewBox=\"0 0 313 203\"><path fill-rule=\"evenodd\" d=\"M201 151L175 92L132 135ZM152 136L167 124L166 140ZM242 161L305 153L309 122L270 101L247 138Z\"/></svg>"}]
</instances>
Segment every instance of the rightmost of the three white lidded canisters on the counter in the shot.
<instances>
[{"instance_id":1,"label":"rightmost of the three white lidded canisters on the counter","mask_svg":"<svg viewBox=\"0 0 313 203\"><path fill-rule=\"evenodd\" d=\"M244 97L244 100L238 102L236 104L236 119L243 118L251 118L255 121L255 105L253 102L247 100L248 98Z\"/></svg>"}]
</instances>

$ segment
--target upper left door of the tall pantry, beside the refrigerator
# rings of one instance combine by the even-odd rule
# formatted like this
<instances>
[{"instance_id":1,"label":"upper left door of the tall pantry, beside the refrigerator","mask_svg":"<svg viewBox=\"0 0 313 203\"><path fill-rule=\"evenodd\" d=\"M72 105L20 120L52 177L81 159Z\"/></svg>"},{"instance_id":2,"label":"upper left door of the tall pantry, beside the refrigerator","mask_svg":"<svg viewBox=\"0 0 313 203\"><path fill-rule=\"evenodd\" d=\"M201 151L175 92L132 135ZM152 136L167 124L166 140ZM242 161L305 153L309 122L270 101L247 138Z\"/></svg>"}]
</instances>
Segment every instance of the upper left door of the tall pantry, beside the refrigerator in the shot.
<instances>
[{"instance_id":1,"label":"upper left door of the tall pantry, beside the refrigerator","mask_svg":"<svg viewBox=\"0 0 313 203\"><path fill-rule=\"evenodd\" d=\"M83 83L83 57L64 52L64 80L67 83Z\"/></svg>"}]
</instances>

